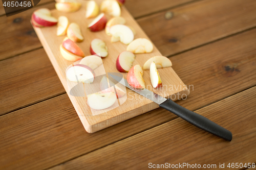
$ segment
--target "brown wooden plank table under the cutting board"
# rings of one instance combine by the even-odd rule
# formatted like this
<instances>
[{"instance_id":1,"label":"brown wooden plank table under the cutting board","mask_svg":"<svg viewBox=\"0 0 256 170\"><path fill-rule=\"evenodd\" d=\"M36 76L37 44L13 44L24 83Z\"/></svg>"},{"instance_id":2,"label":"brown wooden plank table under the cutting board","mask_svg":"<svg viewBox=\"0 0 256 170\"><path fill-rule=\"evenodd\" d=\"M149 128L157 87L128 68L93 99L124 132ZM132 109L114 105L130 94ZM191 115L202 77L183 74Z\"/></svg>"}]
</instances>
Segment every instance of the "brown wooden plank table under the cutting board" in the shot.
<instances>
[{"instance_id":1,"label":"brown wooden plank table under the cutting board","mask_svg":"<svg viewBox=\"0 0 256 170\"><path fill-rule=\"evenodd\" d=\"M188 98L177 103L230 130L232 141L161 108L87 133L30 24L35 9L53 9L54 2L41 0L10 17L1 4L0 169L179 163L232 169L229 163L256 162L256 1L127 0L125 6L190 85Z\"/></svg>"}]
</instances>

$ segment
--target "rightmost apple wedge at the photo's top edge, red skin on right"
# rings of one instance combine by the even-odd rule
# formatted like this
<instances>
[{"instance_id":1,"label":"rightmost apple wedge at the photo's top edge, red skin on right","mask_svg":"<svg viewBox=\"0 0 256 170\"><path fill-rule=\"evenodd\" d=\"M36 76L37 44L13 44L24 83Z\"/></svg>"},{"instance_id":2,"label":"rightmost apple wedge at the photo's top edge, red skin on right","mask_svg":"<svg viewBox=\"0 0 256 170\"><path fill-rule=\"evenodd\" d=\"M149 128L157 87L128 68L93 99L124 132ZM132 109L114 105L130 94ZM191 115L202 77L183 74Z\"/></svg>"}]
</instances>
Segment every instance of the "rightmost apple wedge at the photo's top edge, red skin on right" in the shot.
<instances>
[{"instance_id":1,"label":"rightmost apple wedge at the photo's top edge, red skin on right","mask_svg":"<svg viewBox=\"0 0 256 170\"><path fill-rule=\"evenodd\" d=\"M121 8L117 1L104 0L100 5L100 11L111 16L120 16Z\"/></svg>"}]
</instances>

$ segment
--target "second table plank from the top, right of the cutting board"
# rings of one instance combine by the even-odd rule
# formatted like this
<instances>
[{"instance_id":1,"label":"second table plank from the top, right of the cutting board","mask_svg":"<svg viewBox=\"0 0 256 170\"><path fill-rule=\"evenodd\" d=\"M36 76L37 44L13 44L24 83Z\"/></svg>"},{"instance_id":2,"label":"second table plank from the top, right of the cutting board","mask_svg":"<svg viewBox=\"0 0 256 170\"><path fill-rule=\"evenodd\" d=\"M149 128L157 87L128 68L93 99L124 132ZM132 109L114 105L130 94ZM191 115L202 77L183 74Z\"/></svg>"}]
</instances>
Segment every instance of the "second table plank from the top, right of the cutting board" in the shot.
<instances>
[{"instance_id":1,"label":"second table plank from the top, right of the cutting board","mask_svg":"<svg viewBox=\"0 0 256 170\"><path fill-rule=\"evenodd\" d=\"M207 0L138 19L139 25L164 56L256 26L256 1ZM246 17L245 17L246 16Z\"/></svg>"}]
</instances>

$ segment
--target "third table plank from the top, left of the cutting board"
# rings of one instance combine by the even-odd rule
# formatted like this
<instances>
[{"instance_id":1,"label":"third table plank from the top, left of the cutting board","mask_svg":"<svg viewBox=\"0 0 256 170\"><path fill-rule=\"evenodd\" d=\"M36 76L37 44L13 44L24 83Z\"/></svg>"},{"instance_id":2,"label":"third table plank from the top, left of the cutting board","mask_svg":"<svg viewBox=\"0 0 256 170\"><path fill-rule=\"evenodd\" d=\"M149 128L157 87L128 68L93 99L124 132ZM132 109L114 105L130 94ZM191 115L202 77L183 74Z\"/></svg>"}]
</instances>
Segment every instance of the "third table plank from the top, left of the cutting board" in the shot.
<instances>
[{"instance_id":1,"label":"third table plank from the top, left of the cutting board","mask_svg":"<svg viewBox=\"0 0 256 170\"><path fill-rule=\"evenodd\" d=\"M0 65L0 115L65 93L43 48Z\"/></svg>"}]
</instances>

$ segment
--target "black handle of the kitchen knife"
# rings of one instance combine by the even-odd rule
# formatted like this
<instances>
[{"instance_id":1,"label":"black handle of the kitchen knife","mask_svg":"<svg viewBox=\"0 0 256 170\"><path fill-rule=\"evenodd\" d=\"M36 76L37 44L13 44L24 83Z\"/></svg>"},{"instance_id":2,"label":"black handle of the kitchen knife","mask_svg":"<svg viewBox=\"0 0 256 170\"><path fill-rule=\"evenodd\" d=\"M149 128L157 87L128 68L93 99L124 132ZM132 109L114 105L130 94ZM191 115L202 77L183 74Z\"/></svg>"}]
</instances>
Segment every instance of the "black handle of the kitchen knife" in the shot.
<instances>
[{"instance_id":1,"label":"black handle of the kitchen knife","mask_svg":"<svg viewBox=\"0 0 256 170\"><path fill-rule=\"evenodd\" d=\"M177 116L183 118L190 124L195 125L200 129L203 129L209 133L212 133L228 141L232 140L232 133L230 131L226 130L220 125L217 125L216 123L212 122L208 118L178 105L177 103L173 102L170 99L167 99L165 102L161 103L159 106L161 108L164 108L176 114Z\"/></svg>"}]
</instances>

